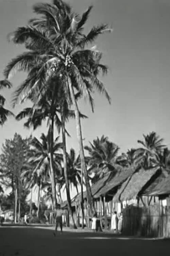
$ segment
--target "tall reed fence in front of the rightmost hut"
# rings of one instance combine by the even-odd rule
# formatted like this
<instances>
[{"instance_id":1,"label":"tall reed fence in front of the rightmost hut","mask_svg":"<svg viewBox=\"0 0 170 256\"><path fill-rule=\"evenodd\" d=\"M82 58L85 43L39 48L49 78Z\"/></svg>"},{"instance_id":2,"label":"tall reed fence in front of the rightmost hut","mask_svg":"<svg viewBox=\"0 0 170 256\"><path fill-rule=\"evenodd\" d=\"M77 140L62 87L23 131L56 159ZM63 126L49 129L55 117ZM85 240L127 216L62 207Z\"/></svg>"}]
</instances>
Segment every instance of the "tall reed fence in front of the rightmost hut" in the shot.
<instances>
[{"instance_id":1,"label":"tall reed fence in front of the rightmost hut","mask_svg":"<svg viewBox=\"0 0 170 256\"><path fill-rule=\"evenodd\" d=\"M170 207L129 206L123 209L122 233L142 237L170 237Z\"/></svg>"}]
</instances>

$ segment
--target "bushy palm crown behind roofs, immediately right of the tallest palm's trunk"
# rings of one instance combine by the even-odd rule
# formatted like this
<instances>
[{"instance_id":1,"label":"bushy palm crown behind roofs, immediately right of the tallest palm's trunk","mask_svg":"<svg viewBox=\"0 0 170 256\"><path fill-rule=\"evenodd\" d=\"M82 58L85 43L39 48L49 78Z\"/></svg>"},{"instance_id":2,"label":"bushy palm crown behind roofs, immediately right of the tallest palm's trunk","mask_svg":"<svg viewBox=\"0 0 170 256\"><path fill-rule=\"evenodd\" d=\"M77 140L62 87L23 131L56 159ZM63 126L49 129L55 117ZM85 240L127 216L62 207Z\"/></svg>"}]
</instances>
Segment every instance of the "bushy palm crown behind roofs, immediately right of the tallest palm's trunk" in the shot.
<instances>
[{"instance_id":1,"label":"bushy palm crown behind roofs, immediately right of the tallest palm's trunk","mask_svg":"<svg viewBox=\"0 0 170 256\"><path fill-rule=\"evenodd\" d=\"M114 170L113 164L116 163L119 147L104 135L101 139L97 137L97 139L93 140L93 143L89 143L90 146L85 146L84 148L89 154L87 161L90 166L90 172L95 173L92 182L96 182L104 175L105 171Z\"/></svg>"}]
</instances>

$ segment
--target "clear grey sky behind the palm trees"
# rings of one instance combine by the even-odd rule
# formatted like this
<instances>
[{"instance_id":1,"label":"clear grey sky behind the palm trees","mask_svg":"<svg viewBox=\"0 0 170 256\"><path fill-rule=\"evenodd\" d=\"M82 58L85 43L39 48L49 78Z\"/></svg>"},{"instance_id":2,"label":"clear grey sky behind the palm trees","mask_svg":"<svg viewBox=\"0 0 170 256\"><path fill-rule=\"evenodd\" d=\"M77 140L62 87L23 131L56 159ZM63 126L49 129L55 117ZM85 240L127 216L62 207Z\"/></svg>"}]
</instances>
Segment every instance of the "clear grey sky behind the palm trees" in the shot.
<instances>
[{"instance_id":1,"label":"clear grey sky behind the palm trees","mask_svg":"<svg viewBox=\"0 0 170 256\"><path fill-rule=\"evenodd\" d=\"M6 35L34 17L32 5L37 0L0 0L0 79L6 63L24 51L20 45L8 43ZM42 0L41 2L50 2ZM111 98L95 94L95 113L86 102L81 102L82 113L89 118L82 122L84 144L97 136L108 136L121 151L137 146L143 133L156 131L170 145L170 0L68 0L76 12L83 13L94 5L86 26L108 23L113 33L104 34L96 41L108 65L108 75L102 78ZM23 80L19 74L11 81L14 88ZM6 108L12 109L12 90L0 91L6 98ZM13 110L17 114L24 105ZM67 129L71 138L68 148L78 152L74 120ZM39 137L46 132L43 126L33 132ZM0 146L6 138L18 132L28 136L32 131L23 128L23 122L10 118L0 127Z\"/></svg>"}]
</instances>

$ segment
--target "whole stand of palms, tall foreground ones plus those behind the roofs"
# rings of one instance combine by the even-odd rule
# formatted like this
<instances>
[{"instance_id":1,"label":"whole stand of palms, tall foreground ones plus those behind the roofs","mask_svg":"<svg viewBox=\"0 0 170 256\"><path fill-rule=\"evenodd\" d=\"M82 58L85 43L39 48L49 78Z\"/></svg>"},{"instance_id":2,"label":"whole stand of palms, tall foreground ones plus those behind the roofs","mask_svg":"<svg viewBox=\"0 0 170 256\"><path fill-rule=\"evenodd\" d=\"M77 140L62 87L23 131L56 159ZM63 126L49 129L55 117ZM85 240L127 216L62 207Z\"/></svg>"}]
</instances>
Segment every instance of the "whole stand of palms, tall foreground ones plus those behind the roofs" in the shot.
<instances>
[{"instance_id":1,"label":"whole stand of palms, tall foreground ones plus those behind the roofs","mask_svg":"<svg viewBox=\"0 0 170 256\"><path fill-rule=\"evenodd\" d=\"M8 63L4 70L4 80L0 82L0 88L10 88L12 84L8 80L15 72L27 73L27 78L15 90L13 106L26 100L31 101L32 105L23 109L16 119L27 118L24 126L33 129L46 122L48 133L47 136L42 134L41 142L33 139L33 156L29 160L31 168L24 172L23 178L29 177L30 187L37 181L38 202L42 186L48 186L53 208L61 200L60 187L65 184L70 215L70 181L78 189L77 182L82 184L84 176L92 214L95 208L90 173L95 172L94 177L97 180L101 178L106 167L114 169L115 163L121 166L135 163L146 169L158 164L163 168L169 166L169 151L154 132L144 136L144 141L138 141L142 147L121 156L117 156L118 146L102 136L85 147L89 154L85 158L81 118L86 116L79 110L79 100L87 99L92 111L94 91L104 94L108 102L111 102L103 83L98 79L100 73L107 73L107 67L101 63L102 54L95 47L87 48L98 35L111 29L102 24L94 26L85 34L84 25L91 9L92 6L89 6L80 16L62 0L53 0L51 4L35 4L33 11L38 16L30 19L27 26L17 28L8 37L13 43L24 45L27 51ZM4 109L4 101L0 96L0 124L5 122L8 115L12 115ZM77 159L74 150L71 149L68 154L66 148L66 136L69 136L66 124L70 118L75 118L76 122L79 142ZM58 137L54 138L55 129L61 134L62 143L58 142ZM95 179L92 178L92 182Z\"/></svg>"}]
</instances>

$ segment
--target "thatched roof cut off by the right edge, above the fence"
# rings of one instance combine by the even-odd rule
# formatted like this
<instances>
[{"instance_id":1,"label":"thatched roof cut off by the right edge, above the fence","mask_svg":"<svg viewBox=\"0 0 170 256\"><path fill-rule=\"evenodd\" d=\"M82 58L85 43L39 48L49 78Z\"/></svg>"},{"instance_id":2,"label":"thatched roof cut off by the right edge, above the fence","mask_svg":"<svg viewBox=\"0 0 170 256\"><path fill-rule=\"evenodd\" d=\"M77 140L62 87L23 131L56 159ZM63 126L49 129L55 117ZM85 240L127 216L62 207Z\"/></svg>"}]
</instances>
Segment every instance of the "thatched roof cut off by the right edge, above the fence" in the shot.
<instances>
[{"instance_id":1,"label":"thatched roof cut off by the right edge, above the fence","mask_svg":"<svg viewBox=\"0 0 170 256\"><path fill-rule=\"evenodd\" d=\"M170 194L170 175L162 179L162 181L158 183L153 188L153 190L148 191L148 195L150 196L168 195L168 194Z\"/></svg>"}]
</instances>

